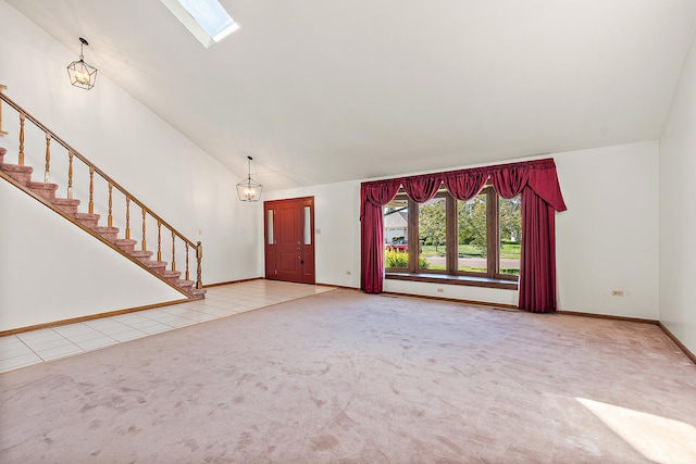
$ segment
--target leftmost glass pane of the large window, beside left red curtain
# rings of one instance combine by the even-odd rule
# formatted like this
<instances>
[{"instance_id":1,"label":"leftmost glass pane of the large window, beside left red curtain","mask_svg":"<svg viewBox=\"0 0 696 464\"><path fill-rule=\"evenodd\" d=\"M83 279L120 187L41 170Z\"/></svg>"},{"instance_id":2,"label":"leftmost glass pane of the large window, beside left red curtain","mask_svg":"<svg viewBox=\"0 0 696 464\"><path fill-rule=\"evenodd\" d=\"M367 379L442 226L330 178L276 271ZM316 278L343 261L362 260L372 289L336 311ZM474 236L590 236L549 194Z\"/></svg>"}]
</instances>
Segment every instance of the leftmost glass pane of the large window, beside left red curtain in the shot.
<instances>
[{"instance_id":1,"label":"leftmost glass pane of the large window, beside left red curtain","mask_svg":"<svg viewBox=\"0 0 696 464\"><path fill-rule=\"evenodd\" d=\"M395 199L383 208L384 267L408 268L409 202Z\"/></svg>"}]
</instances>

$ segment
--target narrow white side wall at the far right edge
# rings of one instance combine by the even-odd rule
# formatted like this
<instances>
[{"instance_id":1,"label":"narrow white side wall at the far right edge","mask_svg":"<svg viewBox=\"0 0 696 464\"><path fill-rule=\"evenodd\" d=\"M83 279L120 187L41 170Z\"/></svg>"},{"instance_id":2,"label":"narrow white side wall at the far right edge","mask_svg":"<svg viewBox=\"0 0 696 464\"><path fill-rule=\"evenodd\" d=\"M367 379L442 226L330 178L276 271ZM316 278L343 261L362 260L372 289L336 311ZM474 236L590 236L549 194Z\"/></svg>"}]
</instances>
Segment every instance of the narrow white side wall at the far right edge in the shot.
<instances>
[{"instance_id":1,"label":"narrow white side wall at the far right edge","mask_svg":"<svg viewBox=\"0 0 696 464\"><path fill-rule=\"evenodd\" d=\"M660 138L660 321L696 353L696 47Z\"/></svg>"}]
</instances>

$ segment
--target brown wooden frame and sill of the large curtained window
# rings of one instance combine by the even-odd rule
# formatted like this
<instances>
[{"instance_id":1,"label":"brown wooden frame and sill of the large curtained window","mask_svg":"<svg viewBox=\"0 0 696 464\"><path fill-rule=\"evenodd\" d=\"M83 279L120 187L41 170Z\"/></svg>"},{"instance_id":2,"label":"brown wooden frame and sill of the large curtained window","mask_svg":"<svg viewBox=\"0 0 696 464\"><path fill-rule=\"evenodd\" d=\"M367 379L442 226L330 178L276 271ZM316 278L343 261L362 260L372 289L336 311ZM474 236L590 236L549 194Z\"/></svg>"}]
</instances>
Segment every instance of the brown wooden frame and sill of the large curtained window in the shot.
<instances>
[{"instance_id":1,"label":"brown wooden frame and sill of the large curtained window","mask_svg":"<svg viewBox=\"0 0 696 464\"><path fill-rule=\"evenodd\" d=\"M445 269L421 268L419 265L420 247L419 240L419 203L411 200L403 188L395 197L396 199L408 199L408 242L418 243L418 252L408 250L408 267L386 267L385 276L388 279L420 280L455 285L473 285L482 287L496 287L517 289L519 276L500 273L500 196L490 184L478 192L486 195L486 272L460 271L459 269L459 233L457 217L457 200L445 188L440 187L434 198L445 198L446 217L446 265Z\"/></svg>"}]
</instances>

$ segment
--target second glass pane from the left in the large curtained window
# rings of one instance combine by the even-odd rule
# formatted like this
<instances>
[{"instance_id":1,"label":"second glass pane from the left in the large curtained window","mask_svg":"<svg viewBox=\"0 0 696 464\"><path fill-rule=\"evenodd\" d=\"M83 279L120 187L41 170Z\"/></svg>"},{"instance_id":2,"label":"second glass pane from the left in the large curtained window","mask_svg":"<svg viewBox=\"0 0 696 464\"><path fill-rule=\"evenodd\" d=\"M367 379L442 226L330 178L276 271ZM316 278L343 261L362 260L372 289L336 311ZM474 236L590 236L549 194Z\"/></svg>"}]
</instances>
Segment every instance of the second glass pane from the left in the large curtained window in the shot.
<instances>
[{"instance_id":1,"label":"second glass pane from the left in the large curtained window","mask_svg":"<svg viewBox=\"0 0 696 464\"><path fill-rule=\"evenodd\" d=\"M420 253L418 264L422 269L447 268L447 200L434 198L427 203L419 204L418 241Z\"/></svg>"}]
</instances>

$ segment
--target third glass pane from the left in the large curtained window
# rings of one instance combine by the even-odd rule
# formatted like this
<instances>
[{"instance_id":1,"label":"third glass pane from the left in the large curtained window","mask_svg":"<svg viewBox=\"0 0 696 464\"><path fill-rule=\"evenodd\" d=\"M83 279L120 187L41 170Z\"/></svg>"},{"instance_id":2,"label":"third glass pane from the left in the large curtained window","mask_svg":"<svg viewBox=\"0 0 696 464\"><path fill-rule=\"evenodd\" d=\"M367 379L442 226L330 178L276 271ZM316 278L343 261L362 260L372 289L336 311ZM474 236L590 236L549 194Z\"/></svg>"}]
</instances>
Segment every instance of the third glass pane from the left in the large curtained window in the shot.
<instances>
[{"instance_id":1,"label":"third glass pane from the left in the large curtained window","mask_svg":"<svg viewBox=\"0 0 696 464\"><path fill-rule=\"evenodd\" d=\"M458 271L485 273L488 268L486 193L457 201Z\"/></svg>"}]
</instances>

